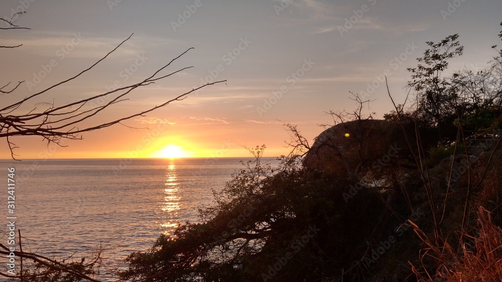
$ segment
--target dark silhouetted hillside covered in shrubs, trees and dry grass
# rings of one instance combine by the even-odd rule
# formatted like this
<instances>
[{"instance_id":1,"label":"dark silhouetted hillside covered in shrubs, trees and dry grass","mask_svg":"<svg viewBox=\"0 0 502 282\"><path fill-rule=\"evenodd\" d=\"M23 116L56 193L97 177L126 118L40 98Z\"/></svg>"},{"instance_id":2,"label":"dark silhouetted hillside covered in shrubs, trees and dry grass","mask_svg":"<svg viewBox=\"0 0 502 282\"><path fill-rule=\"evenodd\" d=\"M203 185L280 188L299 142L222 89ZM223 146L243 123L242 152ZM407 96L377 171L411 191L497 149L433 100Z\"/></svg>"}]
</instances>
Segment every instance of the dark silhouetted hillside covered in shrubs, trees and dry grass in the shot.
<instances>
[{"instance_id":1,"label":"dark silhouetted hillside covered in shrubs, trees and dry grass","mask_svg":"<svg viewBox=\"0 0 502 282\"><path fill-rule=\"evenodd\" d=\"M502 38L502 33L500 34ZM459 36L410 68L413 106L385 120L331 112L312 146L297 131L279 168L255 161L149 251L124 281L475 281L502 279L502 53L446 75ZM391 95L389 93L389 95ZM392 97L391 97L392 98Z\"/></svg>"}]
</instances>

